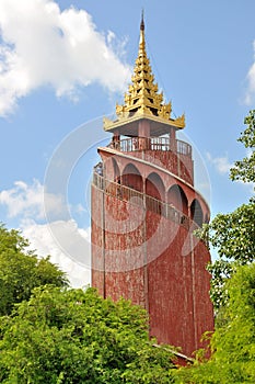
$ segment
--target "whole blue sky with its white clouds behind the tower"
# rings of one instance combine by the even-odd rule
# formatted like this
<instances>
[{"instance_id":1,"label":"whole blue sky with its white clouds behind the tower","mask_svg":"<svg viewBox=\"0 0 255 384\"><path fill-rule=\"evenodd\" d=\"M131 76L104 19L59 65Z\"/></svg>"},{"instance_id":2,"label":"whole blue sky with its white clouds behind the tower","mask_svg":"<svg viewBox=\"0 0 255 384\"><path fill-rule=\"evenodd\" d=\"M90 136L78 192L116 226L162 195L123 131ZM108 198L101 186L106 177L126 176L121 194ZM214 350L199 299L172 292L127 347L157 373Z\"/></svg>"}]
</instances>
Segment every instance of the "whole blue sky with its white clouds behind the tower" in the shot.
<instances>
[{"instance_id":1,"label":"whole blue sky with its white clouds behind the tower","mask_svg":"<svg viewBox=\"0 0 255 384\"><path fill-rule=\"evenodd\" d=\"M229 168L246 155L236 139L255 102L254 0L1 0L1 221L73 285L90 281L90 177L102 116L130 80L142 8L155 80L185 112L212 216L252 194Z\"/></svg>"}]
</instances>

